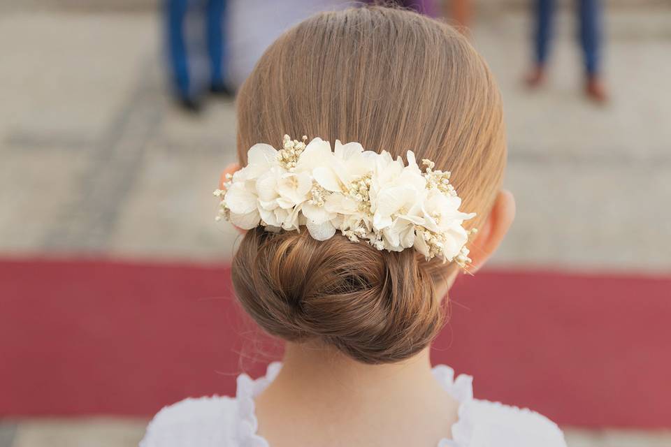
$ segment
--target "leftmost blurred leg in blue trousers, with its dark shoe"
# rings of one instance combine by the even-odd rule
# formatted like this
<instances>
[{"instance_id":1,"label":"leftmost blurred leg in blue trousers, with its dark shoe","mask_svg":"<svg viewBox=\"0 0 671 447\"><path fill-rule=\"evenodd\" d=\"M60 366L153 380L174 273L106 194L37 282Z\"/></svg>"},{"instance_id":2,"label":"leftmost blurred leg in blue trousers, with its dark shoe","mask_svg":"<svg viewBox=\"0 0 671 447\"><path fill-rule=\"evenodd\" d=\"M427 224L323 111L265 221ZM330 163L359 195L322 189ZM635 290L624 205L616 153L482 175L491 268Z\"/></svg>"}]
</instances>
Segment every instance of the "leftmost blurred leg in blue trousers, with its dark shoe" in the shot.
<instances>
[{"instance_id":1,"label":"leftmost blurred leg in blue trousers, with its dark shoe","mask_svg":"<svg viewBox=\"0 0 671 447\"><path fill-rule=\"evenodd\" d=\"M164 0L168 61L171 68L173 89L186 108L199 107L189 78L189 60L185 41L185 21L189 9L188 0Z\"/></svg>"}]
</instances>

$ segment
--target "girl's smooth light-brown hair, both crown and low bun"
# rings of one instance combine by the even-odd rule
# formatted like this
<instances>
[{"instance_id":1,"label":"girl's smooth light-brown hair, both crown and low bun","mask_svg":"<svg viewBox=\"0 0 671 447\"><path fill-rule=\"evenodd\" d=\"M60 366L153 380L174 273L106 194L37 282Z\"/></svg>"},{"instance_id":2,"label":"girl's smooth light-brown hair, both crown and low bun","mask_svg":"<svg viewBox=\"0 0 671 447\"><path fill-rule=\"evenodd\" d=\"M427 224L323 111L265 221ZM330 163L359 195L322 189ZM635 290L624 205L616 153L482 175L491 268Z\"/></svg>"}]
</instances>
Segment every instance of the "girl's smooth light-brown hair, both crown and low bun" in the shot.
<instances>
[{"instance_id":1,"label":"girl's smooth light-brown hair, both crown and low bun","mask_svg":"<svg viewBox=\"0 0 671 447\"><path fill-rule=\"evenodd\" d=\"M452 171L462 209L485 217L505 167L500 94L489 68L447 24L406 10L310 17L259 60L238 96L238 155L284 133L414 150ZM442 326L436 289L452 266L413 250L378 251L342 235L255 228L233 258L233 285L261 328L319 339L366 363L403 360Z\"/></svg>"}]
</instances>

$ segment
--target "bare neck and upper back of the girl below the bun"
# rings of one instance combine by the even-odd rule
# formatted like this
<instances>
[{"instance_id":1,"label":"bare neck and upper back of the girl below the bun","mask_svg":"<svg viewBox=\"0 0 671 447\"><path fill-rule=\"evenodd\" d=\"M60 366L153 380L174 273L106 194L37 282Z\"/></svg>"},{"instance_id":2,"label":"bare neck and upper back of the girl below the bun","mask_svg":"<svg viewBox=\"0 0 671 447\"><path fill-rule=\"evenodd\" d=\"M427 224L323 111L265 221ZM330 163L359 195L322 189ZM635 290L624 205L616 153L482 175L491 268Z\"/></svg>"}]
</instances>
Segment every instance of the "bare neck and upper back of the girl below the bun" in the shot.
<instances>
[{"instance_id":1,"label":"bare neck and upper back of the girl below the bun","mask_svg":"<svg viewBox=\"0 0 671 447\"><path fill-rule=\"evenodd\" d=\"M284 445L278 441L284 436L328 445L320 437L331 432L354 437L342 445L371 445L372 439L380 439L379 427L387 427L389 442L384 445L399 445L399 440L407 445L408 439L418 439L418 432L431 445L450 436L459 407L434 378L428 349L403 362L364 365L310 344L287 344L280 373L256 404L261 434L272 445ZM321 431L298 434L284 432L285 427ZM370 436L368 444L360 441L365 436Z\"/></svg>"}]
</instances>

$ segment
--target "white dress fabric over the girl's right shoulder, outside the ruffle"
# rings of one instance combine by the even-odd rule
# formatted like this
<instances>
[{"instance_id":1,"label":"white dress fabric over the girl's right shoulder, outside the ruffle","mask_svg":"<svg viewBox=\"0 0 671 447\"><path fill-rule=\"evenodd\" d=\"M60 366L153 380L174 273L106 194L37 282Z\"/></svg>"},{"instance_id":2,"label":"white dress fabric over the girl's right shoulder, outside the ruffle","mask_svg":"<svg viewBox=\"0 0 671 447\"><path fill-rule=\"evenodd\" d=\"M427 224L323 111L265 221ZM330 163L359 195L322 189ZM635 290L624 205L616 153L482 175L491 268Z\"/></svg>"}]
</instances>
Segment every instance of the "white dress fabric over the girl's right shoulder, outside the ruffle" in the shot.
<instances>
[{"instance_id":1,"label":"white dress fabric over the girl's right shoulder, outside the ruffle","mask_svg":"<svg viewBox=\"0 0 671 447\"><path fill-rule=\"evenodd\" d=\"M561 429L545 416L486 400L463 404L452 434L473 447L566 447Z\"/></svg>"}]
</instances>

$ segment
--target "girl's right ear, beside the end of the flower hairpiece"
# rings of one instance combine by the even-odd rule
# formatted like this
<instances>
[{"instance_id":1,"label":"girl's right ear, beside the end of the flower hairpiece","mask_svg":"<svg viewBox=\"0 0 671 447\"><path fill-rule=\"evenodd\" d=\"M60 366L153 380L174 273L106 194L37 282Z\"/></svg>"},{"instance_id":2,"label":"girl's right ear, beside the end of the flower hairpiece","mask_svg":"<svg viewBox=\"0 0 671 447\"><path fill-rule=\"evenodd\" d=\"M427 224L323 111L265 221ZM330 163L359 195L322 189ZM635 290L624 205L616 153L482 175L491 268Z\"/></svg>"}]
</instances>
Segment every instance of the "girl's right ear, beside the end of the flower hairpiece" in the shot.
<instances>
[{"instance_id":1,"label":"girl's right ear, beside the end of the flower hairpiece","mask_svg":"<svg viewBox=\"0 0 671 447\"><path fill-rule=\"evenodd\" d=\"M471 244L471 265L469 272L475 273L482 268L484 263L496 251L508 228L515 219L515 198L510 191L502 189L498 191L494 205L491 207L489 216L484 221L482 228L478 228L477 237Z\"/></svg>"}]
</instances>

